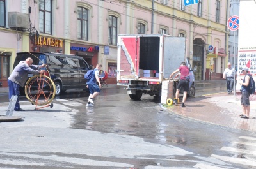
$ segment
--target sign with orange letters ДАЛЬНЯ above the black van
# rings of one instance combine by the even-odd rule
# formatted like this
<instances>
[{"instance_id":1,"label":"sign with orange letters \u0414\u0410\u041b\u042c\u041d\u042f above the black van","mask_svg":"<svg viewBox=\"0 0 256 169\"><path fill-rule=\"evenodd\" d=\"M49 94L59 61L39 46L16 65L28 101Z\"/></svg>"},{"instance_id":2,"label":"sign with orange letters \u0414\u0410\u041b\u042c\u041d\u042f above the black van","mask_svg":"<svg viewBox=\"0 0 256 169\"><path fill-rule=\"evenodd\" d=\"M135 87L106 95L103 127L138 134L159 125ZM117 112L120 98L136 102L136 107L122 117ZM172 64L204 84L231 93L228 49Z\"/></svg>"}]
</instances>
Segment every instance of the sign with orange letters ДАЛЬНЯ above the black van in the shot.
<instances>
[{"instance_id":1,"label":"sign with orange letters \u0414\u0410\u041b\u042c\u041d\u042f above the black van","mask_svg":"<svg viewBox=\"0 0 256 169\"><path fill-rule=\"evenodd\" d=\"M36 38L36 37L35 37ZM38 40L36 40L36 45L42 47L42 45L50 46L50 47L63 47L63 40L58 40L54 38L47 38L39 36Z\"/></svg>"}]
</instances>

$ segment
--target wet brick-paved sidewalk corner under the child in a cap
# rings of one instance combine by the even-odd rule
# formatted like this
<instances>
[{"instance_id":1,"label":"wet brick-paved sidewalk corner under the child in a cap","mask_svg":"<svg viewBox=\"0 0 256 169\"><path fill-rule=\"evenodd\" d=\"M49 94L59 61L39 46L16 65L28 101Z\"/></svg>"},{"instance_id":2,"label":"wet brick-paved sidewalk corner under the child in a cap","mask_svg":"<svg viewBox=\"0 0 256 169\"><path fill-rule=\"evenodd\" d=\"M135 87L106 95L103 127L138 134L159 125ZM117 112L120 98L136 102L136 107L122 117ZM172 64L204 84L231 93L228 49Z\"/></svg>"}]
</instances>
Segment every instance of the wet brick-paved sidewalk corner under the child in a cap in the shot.
<instances>
[{"instance_id":1,"label":"wet brick-paved sidewalk corner under the child in a cap","mask_svg":"<svg viewBox=\"0 0 256 169\"><path fill-rule=\"evenodd\" d=\"M1 92L8 92L8 87L0 87ZM254 98L254 97L253 97ZM166 106L175 115L180 115L197 121L216 124L234 129L256 131L256 101L250 101L250 119L241 119L242 113L239 97L234 94L220 92L188 98L185 105L181 107L182 98L179 105Z\"/></svg>"}]
</instances>

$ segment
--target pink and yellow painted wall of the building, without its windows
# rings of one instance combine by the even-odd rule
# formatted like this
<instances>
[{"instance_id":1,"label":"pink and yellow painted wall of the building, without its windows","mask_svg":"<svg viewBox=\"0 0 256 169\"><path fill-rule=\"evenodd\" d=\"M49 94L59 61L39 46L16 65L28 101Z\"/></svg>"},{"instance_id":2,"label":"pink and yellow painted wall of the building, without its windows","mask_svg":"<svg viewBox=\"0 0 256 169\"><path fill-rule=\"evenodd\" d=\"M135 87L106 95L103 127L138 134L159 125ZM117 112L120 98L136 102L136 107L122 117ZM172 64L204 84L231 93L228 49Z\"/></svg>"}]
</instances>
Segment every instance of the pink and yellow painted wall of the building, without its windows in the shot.
<instances>
[{"instance_id":1,"label":"pink and yellow painted wall of the building, without its windows","mask_svg":"<svg viewBox=\"0 0 256 169\"><path fill-rule=\"evenodd\" d=\"M217 48L224 48L228 51L228 36L226 33L227 23L227 1L220 0L220 20L216 22L216 4L217 0L202 1L202 15L198 16L198 4L191 6L181 6L181 0L166 1L162 4L161 1L152 0L63 0L52 1L52 34L42 34L63 40L65 53L72 52L70 47L72 44L78 45L93 45L99 46L99 53L95 62L102 62L103 70L108 70L109 62L116 62L117 47L109 44L109 15L118 18L117 34L138 33L138 23L145 24L145 33L160 33L161 29L166 30L166 34L172 36L180 36L183 34L186 37L186 55L190 59L193 66L199 66L198 59L195 53L195 42L200 42L200 50L202 50L202 61L200 61L200 71L197 72L196 80L204 80L205 72L213 64L213 74L223 73L226 57L217 56L216 58L207 57L209 45ZM13 5L17 4L17 5ZM35 5L35 9L34 9ZM30 18L32 26L39 30L38 24L38 1L6 1L6 13L10 11L28 12L28 6L32 7ZM21 7L20 7L21 6ZM88 40L77 39L77 6L86 8L88 13ZM153 18L152 18L153 16ZM6 17L8 20L8 17ZM16 39L16 31L10 30L8 24L3 29L0 29L1 34L13 35L13 42L8 48L16 49L16 52L31 50L29 46L29 32L17 31L22 35L22 40ZM104 47L109 46L110 54L104 55ZM19 47L18 47L19 46ZM0 48L6 48L3 41L0 41ZM56 51L59 51L59 49ZM14 55L10 59L14 61ZM223 59L224 58L224 59ZM211 62L211 63L210 63ZM12 63L11 63L12 64ZM12 66L10 67L10 71ZM199 75L200 74L200 75Z\"/></svg>"}]
</instances>

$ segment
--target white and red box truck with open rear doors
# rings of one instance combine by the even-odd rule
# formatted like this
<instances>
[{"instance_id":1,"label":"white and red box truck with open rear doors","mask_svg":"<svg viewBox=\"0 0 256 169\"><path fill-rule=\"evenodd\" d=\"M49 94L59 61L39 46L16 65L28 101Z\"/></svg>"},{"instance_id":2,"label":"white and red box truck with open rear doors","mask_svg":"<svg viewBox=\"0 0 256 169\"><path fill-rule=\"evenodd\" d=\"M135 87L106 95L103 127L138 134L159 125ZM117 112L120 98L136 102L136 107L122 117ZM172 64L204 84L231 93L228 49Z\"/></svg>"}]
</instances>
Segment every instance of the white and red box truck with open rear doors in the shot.
<instances>
[{"instance_id":1,"label":"white and red box truck with open rear doors","mask_svg":"<svg viewBox=\"0 0 256 169\"><path fill-rule=\"evenodd\" d=\"M184 61L190 70L188 96L195 96L195 77L186 58L184 37L166 34L119 34L117 85L124 86L131 99L141 99L144 93L161 96L161 103L164 100L166 103L166 99L162 99L162 95L166 94L161 93L162 85L166 85L163 82L170 82L170 74ZM173 82L178 80L174 79Z\"/></svg>"}]
</instances>

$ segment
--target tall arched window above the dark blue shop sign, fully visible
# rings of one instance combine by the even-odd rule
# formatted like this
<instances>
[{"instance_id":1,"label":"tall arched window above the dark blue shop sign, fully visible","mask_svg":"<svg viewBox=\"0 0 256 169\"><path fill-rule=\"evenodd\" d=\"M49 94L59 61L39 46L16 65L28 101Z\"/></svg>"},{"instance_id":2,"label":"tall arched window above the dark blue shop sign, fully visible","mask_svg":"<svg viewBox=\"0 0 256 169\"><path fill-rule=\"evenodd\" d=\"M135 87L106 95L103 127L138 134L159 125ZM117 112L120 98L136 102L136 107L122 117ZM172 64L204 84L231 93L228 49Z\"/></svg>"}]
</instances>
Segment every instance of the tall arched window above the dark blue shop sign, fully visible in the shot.
<instances>
[{"instance_id":1,"label":"tall arched window above the dark blue shop sign, fully visible","mask_svg":"<svg viewBox=\"0 0 256 169\"><path fill-rule=\"evenodd\" d=\"M88 40L88 10L77 8L77 38Z\"/></svg>"}]
</instances>

